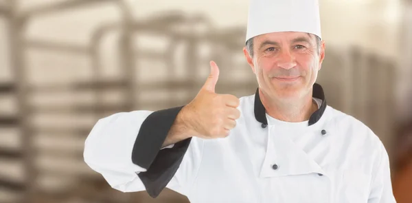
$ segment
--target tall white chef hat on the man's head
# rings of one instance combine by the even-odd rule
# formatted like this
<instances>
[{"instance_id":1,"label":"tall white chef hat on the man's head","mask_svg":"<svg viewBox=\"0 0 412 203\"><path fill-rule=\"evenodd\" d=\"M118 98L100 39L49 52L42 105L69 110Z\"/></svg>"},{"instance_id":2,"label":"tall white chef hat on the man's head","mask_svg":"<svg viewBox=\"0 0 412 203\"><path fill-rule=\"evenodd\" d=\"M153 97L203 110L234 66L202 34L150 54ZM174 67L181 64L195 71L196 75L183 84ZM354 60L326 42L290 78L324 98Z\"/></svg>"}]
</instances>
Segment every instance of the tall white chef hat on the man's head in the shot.
<instances>
[{"instance_id":1,"label":"tall white chef hat on the man's head","mask_svg":"<svg viewBox=\"0 0 412 203\"><path fill-rule=\"evenodd\" d=\"M270 32L308 32L321 38L318 0L250 0L246 41Z\"/></svg>"}]
</instances>

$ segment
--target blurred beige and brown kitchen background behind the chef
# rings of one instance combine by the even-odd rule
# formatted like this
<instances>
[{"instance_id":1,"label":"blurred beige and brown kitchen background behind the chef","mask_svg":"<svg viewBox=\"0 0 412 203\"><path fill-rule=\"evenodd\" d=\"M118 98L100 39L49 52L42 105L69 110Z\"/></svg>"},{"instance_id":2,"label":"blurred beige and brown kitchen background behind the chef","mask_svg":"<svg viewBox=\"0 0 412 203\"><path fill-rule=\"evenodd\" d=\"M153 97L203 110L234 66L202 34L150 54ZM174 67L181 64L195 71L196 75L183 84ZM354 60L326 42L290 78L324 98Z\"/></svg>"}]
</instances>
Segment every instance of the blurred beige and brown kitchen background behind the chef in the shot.
<instances>
[{"instance_id":1,"label":"blurred beige and brown kitchen background behind the chef","mask_svg":"<svg viewBox=\"0 0 412 203\"><path fill-rule=\"evenodd\" d=\"M0 202L187 202L166 189L121 193L84 163L99 118L254 94L242 52L246 0L0 0ZM321 0L318 83L391 158L398 202L412 202L412 1ZM119 135L122 136L122 135Z\"/></svg>"}]
</instances>

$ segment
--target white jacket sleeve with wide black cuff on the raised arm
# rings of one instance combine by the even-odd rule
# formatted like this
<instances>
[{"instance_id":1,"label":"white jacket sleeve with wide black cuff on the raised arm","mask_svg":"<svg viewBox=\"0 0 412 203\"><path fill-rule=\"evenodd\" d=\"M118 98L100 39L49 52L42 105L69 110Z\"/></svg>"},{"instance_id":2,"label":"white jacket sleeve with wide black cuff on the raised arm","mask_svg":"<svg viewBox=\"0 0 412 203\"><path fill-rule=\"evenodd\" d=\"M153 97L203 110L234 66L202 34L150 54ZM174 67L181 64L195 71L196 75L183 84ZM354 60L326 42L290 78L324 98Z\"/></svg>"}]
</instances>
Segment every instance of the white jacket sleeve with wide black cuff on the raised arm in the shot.
<instances>
[{"instance_id":1,"label":"white jacket sleeve with wide black cuff on the raised arm","mask_svg":"<svg viewBox=\"0 0 412 203\"><path fill-rule=\"evenodd\" d=\"M181 107L131 111L98 120L84 143L84 162L123 192L157 197L168 188L187 195L200 167L203 140L161 145Z\"/></svg>"}]
</instances>

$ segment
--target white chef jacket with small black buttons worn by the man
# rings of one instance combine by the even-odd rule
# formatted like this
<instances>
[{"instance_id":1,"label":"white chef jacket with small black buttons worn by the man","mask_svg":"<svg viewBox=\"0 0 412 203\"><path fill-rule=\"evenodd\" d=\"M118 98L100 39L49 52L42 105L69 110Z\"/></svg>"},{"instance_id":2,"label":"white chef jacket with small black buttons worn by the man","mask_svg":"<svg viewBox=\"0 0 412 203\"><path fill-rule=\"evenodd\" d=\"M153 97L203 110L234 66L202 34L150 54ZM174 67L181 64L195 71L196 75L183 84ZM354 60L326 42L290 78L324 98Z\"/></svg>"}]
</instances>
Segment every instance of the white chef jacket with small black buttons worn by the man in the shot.
<instances>
[{"instance_id":1,"label":"white chef jacket with small black buttons worn by the man","mask_svg":"<svg viewBox=\"0 0 412 203\"><path fill-rule=\"evenodd\" d=\"M183 153L179 152L176 171L169 172L171 179L165 178L166 167L159 166L172 160L168 154L177 144L160 149L164 139L157 141L155 151L159 153L154 157L163 156L161 162L138 165L136 158L132 160L133 153L145 148L137 149L137 142L145 142L140 146L147 146L148 152L139 151L135 157L153 156L149 153L154 142L147 140L159 132L146 135L146 141L137 139L145 136L142 123L152 111L122 112L100 119L85 142L84 161L113 189L149 192L155 186L157 194L149 192L155 197L167 184L194 203L396 202L389 158L380 139L359 120L325 105L323 90L316 83L314 98L322 101L317 115L295 123L268 116L258 91L240 98L241 116L229 136L191 138L180 150ZM162 123L150 123L156 125ZM155 172L141 175L149 170Z\"/></svg>"}]
</instances>

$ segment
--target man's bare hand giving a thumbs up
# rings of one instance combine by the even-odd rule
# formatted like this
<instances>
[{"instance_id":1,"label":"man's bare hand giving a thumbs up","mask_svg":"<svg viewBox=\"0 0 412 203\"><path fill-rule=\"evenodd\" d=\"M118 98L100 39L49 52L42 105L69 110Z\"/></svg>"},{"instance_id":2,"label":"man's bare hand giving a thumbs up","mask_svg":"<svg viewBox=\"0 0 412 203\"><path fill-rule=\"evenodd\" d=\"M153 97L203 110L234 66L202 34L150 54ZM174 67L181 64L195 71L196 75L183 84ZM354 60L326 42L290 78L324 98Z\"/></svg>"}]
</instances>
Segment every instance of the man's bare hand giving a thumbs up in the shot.
<instances>
[{"instance_id":1,"label":"man's bare hand giving a thumbs up","mask_svg":"<svg viewBox=\"0 0 412 203\"><path fill-rule=\"evenodd\" d=\"M230 94L216 94L219 68L210 62L210 74L196 97L186 106L187 120L200 138L224 138L236 126L240 117L239 99Z\"/></svg>"}]
</instances>

